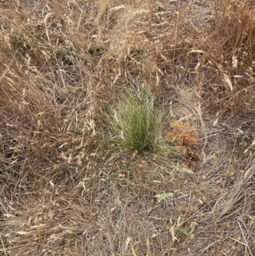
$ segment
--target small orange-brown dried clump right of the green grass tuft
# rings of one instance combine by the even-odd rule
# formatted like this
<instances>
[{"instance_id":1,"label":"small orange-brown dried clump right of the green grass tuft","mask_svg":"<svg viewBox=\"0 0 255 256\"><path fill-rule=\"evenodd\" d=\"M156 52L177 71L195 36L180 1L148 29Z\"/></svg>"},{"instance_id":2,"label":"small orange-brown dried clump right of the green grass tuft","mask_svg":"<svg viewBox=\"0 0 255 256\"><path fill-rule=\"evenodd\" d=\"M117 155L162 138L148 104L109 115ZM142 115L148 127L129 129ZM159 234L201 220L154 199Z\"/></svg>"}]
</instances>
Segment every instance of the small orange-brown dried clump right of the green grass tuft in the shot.
<instances>
[{"instance_id":1,"label":"small orange-brown dried clump right of the green grass tuft","mask_svg":"<svg viewBox=\"0 0 255 256\"><path fill-rule=\"evenodd\" d=\"M190 124L178 122L171 127L173 132L170 134L169 139L175 146L190 148L198 144L198 135Z\"/></svg>"}]
</instances>

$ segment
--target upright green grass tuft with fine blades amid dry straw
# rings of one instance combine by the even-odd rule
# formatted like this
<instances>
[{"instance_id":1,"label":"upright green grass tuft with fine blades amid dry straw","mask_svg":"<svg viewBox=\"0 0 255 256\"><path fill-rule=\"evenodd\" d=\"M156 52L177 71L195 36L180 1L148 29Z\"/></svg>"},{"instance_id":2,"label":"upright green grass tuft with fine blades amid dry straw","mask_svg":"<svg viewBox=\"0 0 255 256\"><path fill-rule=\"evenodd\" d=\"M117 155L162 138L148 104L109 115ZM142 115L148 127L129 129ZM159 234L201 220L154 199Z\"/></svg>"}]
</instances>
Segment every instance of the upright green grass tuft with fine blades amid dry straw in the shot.
<instances>
[{"instance_id":1,"label":"upright green grass tuft with fine blades amid dry straw","mask_svg":"<svg viewBox=\"0 0 255 256\"><path fill-rule=\"evenodd\" d=\"M161 147L162 110L147 90L127 92L113 110L110 123L128 151L138 154L156 153Z\"/></svg>"}]
</instances>

